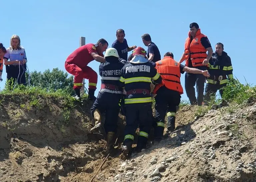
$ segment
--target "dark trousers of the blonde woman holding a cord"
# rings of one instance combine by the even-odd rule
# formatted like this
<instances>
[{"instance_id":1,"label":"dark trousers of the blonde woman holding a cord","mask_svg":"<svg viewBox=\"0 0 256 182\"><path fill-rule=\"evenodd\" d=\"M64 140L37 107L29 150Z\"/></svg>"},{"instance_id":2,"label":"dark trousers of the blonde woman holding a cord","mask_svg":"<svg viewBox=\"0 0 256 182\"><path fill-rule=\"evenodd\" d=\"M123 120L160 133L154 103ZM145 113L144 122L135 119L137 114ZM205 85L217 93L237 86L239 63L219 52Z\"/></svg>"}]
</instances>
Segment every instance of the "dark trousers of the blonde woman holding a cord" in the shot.
<instances>
[{"instance_id":1,"label":"dark trousers of the blonde woman holding a cord","mask_svg":"<svg viewBox=\"0 0 256 182\"><path fill-rule=\"evenodd\" d=\"M26 70L27 70L26 64L24 64L24 65L6 65L7 80L10 80L11 78L13 78L13 80L15 81L15 79L17 79L18 84L25 85Z\"/></svg>"}]
</instances>

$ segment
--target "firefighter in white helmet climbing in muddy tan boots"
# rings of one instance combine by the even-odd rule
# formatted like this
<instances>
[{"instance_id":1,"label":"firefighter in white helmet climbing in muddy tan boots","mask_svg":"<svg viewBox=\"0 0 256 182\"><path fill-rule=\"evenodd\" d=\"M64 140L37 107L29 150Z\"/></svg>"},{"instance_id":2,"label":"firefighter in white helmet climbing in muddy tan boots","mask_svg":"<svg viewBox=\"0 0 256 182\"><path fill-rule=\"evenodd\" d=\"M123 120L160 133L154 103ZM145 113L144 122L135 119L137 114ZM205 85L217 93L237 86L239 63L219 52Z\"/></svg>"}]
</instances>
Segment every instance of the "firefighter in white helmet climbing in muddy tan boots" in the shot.
<instances>
[{"instance_id":1,"label":"firefighter in white helmet climbing in muddy tan boots","mask_svg":"<svg viewBox=\"0 0 256 182\"><path fill-rule=\"evenodd\" d=\"M97 132L101 128L101 114L106 113L104 129L107 133L107 152L111 152L114 145L117 120L120 111L118 105L123 96L123 89L119 86L121 69L126 61L119 60L117 50L108 48L104 56L106 62L99 66L101 77L101 89L95 100L91 112L95 119L95 126L91 132Z\"/></svg>"}]
</instances>

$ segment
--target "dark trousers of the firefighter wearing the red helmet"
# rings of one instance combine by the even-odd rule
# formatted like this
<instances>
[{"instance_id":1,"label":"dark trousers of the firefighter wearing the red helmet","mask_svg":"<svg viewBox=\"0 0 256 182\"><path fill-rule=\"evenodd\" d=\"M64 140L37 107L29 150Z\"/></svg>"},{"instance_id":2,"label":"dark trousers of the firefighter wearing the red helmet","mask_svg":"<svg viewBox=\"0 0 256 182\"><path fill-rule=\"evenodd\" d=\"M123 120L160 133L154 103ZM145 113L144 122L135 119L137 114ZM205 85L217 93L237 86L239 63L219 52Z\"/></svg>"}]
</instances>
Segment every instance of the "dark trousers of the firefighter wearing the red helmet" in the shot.
<instances>
[{"instance_id":1,"label":"dark trousers of the firefighter wearing the red helmet","mask_svg":"<svg viewBox=\"0 0 256 182\"><path fill-rule=\"evenodd\" d=\"M136 129L140 128L137 148L145 148L152 127L152 104L132 104L126 106L126 126L124 145L131 145Z\"/></svg>"}]
</instances>

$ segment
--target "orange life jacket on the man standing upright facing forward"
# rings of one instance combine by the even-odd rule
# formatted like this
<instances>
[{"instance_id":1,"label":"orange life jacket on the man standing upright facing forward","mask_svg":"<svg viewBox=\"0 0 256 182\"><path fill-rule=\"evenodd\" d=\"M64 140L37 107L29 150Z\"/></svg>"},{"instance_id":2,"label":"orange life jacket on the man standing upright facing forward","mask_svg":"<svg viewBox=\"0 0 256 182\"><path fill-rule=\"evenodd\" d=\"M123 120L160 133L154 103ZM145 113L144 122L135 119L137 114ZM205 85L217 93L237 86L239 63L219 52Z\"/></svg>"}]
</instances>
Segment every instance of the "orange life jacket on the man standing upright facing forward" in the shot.
<instances>
[{"instance_id":1,"label":"orange life jacket on the man standing upright facing forward","mask_svg":"<svg viewBox=\"0 0 256 182\"><path fill-rule=\"evenodd\" d=\"M192 61L193 67L196 66L203 66L203 61L207 57L206 49L201 44L201 38L206 37L204 34L201 34L201 30L198 29L196 32L195 38L192 40L190 44L191 34L188 33L188 38L185 42L185 59L186 59L186 66L188 66L188 59L190 55L190 59Z\"/></svg>"}]
</instances>

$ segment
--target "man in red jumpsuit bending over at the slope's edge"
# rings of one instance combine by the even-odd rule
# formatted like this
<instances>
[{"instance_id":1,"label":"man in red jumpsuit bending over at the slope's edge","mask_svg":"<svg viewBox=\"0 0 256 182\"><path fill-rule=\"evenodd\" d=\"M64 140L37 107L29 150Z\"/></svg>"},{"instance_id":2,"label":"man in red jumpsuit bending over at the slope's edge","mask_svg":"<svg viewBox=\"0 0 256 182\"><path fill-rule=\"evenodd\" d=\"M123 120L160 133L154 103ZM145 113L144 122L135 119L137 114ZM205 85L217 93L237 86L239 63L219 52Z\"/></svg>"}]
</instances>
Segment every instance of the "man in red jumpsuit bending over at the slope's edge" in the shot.
<instances>
[{"instance_id":1,"label":"man in red jumpsuit bending over at the slope's edge","mask_svg":"<svg viewBox=\"0 0 256 182\"><path fill-rule=\"evenodd\" d=\"M75 99L80 100L80 89L82 87L83 78L89 80L88 95L89 100L96 100L94 92L96 90L97 73L87 64L93 60L105 62L103 52L108 48L108 42L100 39L96 44L86 44L77 48L72 52L65 61L65 69L74 75Z\"/></svg>"}]
</instances>

